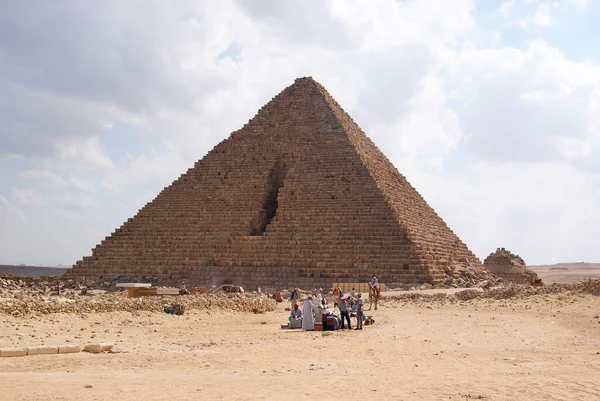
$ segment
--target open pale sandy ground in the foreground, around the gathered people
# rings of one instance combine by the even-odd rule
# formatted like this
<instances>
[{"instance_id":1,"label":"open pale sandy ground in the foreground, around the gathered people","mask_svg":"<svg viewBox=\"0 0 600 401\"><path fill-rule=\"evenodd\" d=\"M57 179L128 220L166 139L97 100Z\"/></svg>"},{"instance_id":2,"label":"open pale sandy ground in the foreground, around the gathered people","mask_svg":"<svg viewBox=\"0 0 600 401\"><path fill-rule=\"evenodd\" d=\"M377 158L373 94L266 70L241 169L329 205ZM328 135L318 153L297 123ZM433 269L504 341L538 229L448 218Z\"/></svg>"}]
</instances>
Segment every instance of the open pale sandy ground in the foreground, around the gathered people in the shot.
<instances>
[{"instance_id":1,"label":"open pale sandy ground in the foreground, around the gathered people","mask_svg":"<svg viewBox=\"0 0 600 401\"><path fill-rule=\"evenodd\" d=\"M0 399L600 400L600 296L388 300L329 336L280 329L285 306L0 317L0 347L123 350L0 358Z\"/></svg>"}]
</instances>

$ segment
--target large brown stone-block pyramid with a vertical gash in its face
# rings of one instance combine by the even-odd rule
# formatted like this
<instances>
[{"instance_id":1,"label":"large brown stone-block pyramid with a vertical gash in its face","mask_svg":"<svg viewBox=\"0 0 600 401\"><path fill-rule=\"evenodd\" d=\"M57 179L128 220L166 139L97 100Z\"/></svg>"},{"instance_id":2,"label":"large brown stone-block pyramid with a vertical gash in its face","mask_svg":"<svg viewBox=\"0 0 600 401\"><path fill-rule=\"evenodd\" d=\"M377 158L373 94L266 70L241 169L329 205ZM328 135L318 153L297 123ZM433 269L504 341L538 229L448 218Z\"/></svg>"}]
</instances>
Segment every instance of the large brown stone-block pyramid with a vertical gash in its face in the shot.
<instances>
[{"instance_id":1,"label":"large brown stone-block pyramid with a vertical gash in its face","mask_svg":"<svg viewBox=\"0 0 600 401\"><path fill-rule=\"evenodd\" d=\"M300 78L69 275L312 287L439 283L459 264L481 262L329 93Z\"/></svg>"}]
</instances>

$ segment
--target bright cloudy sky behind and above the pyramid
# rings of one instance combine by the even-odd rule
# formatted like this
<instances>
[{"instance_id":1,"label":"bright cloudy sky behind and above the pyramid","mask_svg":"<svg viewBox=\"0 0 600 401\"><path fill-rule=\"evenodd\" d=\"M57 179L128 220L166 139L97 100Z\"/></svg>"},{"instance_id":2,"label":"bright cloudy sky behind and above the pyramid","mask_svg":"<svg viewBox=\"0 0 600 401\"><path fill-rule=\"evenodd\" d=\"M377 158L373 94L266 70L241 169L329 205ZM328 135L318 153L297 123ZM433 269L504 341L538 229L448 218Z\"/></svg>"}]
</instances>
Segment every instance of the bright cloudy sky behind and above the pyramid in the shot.
<instances>
[{"instance_id":1,"label":"bright cloudy sky behind and above the pyramid","mask_svg":"<svg viewBox=\"0 0 600 401\"><path fill-rule=\"evenodd\" d=\"M483 261L600 262L600 0L0 0L0 264L69 266L312 76Z\"/></svg>"}]
</instances>

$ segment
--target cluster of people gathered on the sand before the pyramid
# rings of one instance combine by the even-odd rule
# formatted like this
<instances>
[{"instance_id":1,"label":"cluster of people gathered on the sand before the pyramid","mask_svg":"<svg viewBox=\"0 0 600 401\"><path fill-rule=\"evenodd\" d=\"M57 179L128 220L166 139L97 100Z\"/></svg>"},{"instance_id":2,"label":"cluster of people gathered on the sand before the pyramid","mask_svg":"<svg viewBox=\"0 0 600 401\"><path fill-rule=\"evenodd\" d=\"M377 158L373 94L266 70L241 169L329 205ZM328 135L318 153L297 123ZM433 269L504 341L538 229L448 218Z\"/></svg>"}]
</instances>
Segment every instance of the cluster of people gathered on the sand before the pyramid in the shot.
<instances>
[{"instance_id":1,"label":"cluster of people gathered on the sand before the pyramid","mask_svg":"<svg viewBox=\"0 0 600 401\"><path fill-rule=\"evenodd\" d=\"M356 328L355 330L362 330L363 325L363 314L364 314L364 300L362 294L359 293L355 297L354 288L350 291L350 294L344 295L339 287L333 290L334 307L337 307L340 311L340 328L344 330L346 323L348 329L352 329L350 322L351 311L356 312ZM292 305L290 320L302 321L302 330L314 330L315 329L315 316L314 314L321 313L322 309L327 307L327 299L324 296L318 297L317 295L309 295L302 304L302 309L299 308L298 300L300 293L295 288L290 295L290 302ZM313 300L317 298L315 304ZM296 326L298 327L298 326Z\"/></svg>"}]
</instances>

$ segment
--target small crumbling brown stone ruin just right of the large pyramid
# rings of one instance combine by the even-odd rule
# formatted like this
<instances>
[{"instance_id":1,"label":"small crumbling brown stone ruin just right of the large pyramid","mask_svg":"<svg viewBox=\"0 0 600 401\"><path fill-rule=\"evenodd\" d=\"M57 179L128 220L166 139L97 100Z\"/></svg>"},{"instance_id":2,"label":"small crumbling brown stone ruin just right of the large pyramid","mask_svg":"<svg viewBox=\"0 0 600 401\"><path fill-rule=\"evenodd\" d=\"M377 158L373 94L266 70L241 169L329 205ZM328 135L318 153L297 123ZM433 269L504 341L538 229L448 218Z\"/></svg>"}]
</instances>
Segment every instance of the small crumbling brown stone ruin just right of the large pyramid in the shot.
<instances>
[{"instance_id":1,"label":"small crumbling brown stone ruin just right of the large pyramid","mask_svg":"<svg viewBox=\"0 0 600 401\"><path fill-rule=\"evenodd\" d=\"M525 261L504 248L496 249L483 262L485 269L493 275L501 277L505 282L514 284L539 284L538 275L528 269Z\"/></svg>"}]
</instances>

